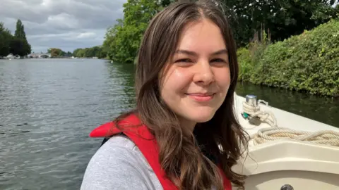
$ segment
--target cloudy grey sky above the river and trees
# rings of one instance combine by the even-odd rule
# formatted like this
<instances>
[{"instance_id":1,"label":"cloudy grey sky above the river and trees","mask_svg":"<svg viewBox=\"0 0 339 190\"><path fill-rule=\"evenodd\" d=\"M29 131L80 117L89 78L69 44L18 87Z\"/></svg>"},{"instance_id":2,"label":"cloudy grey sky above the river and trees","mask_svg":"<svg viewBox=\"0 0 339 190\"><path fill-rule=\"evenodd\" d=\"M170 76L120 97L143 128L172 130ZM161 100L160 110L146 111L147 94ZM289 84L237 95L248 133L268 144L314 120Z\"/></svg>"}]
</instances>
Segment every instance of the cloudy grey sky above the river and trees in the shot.
<instances>
[{"instance_id":1,"label":"cloudy grey sky above the river and trees","mask_svg":"<svg viewBox=\"0 0 339 190\"><path fill-rule=\"evenodd\" d=\"M73 52L101 45L107 27L122 18L126 1L0 0L0 22L13 34L16 20L22 20L32 51L55 47Z\"/></svg>"}]
</instances>

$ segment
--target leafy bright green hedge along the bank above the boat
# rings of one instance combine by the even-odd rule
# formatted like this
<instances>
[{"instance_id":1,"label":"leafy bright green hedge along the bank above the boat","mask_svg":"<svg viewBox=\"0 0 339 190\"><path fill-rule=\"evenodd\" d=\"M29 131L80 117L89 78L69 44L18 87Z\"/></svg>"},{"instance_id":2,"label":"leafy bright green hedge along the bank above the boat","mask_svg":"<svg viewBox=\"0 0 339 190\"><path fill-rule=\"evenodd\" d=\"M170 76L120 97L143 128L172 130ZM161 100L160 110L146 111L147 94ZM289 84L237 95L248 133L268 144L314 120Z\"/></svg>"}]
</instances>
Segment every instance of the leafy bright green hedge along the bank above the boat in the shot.
<instances>
[{"instance_id":1,"label":"leafy bright green hedge along the bank above the boat","mask_svg":"<svg viewBox=\"0 0 339 190\"><path fill-rule=\"evenodd\" d=\"M239 80L339 96L339 20L283 42L238 49Z\"/></svg>"}]
</instances>

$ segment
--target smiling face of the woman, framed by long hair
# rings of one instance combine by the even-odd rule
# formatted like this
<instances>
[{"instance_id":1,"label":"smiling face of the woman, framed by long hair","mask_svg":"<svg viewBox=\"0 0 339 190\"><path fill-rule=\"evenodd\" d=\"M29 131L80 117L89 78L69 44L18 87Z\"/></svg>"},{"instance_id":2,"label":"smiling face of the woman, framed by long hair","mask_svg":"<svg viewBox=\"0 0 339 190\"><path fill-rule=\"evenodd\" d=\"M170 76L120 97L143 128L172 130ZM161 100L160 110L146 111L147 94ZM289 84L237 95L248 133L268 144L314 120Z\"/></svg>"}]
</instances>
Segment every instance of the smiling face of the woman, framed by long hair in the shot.
<instances>
[{"instance_id":1,"label":"smiling face of the woman, framed by long hair","mask_svg":"<svg viewBox=\"0 0 339 190\"><path fill-rule=\"evenodd\" d=\"M172 60L161 78L163 101L193 130L207 122L225 100L230 87L227 46L221 31L203 19L184 28Z\"/></svg>"}]
</instances>

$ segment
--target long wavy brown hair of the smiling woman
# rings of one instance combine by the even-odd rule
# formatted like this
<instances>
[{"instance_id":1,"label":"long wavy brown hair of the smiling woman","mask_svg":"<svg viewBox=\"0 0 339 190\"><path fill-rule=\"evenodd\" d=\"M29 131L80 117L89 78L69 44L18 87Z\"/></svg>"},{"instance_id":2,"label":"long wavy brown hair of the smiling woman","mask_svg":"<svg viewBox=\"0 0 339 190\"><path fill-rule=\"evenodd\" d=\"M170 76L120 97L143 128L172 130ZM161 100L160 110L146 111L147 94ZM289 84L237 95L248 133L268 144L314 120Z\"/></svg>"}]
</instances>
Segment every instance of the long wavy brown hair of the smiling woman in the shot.
<instances>
[{"instance_id":1,"label":"long wavy brown hair of the smiling woman","mask_svg":"<svg viewBox=\"0 0 339 190\"><path fill-rule=\"evenodd\" d=\"M209 19L218 25L227 45L231 84L225 101L214 117L198 123L194 135L185 135L175 113L160 97L160 73L172 58L187 23ZM218 160L230 181L244 189L243 179L231 170L247 147L246 136L234 115L234 90L238 63L236 47L225 15L213 1L181 1L157 13L145 31L136 65L136 110L143 124L155 135L162 169L179 189L223 189L218 167L206 154ZM116 121L129 113L121 115ZM198 143L196 143L198 141ZM244 147L244 148L242 148Z\"/></svg>"}]
</instances>

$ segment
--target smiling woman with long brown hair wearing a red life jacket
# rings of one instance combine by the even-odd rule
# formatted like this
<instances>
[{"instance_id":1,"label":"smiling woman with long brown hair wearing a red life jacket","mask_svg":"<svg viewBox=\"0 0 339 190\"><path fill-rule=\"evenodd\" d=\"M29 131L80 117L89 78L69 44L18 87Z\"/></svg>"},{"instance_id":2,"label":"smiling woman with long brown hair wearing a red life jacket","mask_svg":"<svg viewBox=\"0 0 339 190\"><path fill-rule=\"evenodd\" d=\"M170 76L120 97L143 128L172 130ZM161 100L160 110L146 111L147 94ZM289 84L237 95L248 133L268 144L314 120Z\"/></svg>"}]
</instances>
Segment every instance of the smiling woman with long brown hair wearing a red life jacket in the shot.
<instances>
[{"instance_id":1,"label":"smiling woman with long brown hair wearing a red life jacket","mask_svg":"<svg viewBox=\"0 0 339 190\"><path fill-rule=\"evenodd\" d=\"M243 188L231 170L246 147L233 110L237 76L231 30L215 4L176 3L155 15L138 52L136 110L91 134L110 139L81 189Z\"/></svg>"}]
</instances>

